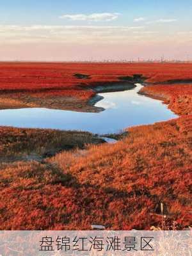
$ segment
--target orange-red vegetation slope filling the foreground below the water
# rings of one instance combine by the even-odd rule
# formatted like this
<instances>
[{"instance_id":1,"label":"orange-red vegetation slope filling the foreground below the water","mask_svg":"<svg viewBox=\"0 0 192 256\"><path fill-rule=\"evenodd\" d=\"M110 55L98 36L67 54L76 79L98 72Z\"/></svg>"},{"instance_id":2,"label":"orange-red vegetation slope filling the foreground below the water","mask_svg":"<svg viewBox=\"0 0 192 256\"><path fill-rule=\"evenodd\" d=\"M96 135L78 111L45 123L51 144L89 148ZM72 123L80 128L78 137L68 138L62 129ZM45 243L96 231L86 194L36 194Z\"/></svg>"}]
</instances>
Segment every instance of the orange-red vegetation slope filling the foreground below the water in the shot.
<instances>
[{"instance_id":1,"label":"orange-red vegetation slope filling the foreground below the water","mask_svg":"<svg viewBox=\"0 0 192 256\"><path fill-rule=\"evenodd\" d=\"M191 116L129 129L115 145L48 162L1 164L0 228L113 229L190 224ZM170 227L172 223L172 227Z\"/></svg>"}]
</instances>

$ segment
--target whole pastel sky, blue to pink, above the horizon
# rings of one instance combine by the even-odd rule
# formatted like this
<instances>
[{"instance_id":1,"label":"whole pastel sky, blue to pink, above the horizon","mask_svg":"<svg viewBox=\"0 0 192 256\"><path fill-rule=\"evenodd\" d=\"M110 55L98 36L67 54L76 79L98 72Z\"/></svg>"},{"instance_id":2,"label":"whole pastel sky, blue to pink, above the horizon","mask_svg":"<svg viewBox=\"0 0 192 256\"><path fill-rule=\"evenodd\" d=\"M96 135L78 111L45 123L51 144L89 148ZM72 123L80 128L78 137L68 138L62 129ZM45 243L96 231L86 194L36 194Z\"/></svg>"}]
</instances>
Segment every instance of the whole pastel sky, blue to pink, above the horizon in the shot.
<instances>
[{"instance_id":1,"label":"whole pastel sky, blue to pink, above the horizon","mask_svg":"<svg viewBox=\"0 0 192 256\"><path fill-rule=\"evenodd\" d=\"M192 60L191 0L0 0L0 60Z\"/></svg>"}]
</instances>

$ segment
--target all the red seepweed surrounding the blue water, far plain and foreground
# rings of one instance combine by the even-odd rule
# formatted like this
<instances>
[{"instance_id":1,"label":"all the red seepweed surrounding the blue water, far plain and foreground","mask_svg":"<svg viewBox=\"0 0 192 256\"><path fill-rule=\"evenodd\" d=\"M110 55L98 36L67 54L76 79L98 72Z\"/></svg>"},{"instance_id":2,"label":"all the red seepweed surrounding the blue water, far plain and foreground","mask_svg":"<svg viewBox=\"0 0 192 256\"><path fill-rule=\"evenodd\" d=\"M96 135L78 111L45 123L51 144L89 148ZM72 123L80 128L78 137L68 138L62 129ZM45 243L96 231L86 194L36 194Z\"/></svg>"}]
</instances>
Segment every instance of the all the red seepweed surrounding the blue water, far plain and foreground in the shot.
<instances>
[{"instance_id":1,"label":"all the red seepweed surrounding the blue water, far plain and foreground","mask_svg":"<svg viewBox=\"0 0 192 256\"><path fill-rule=\"evenodd\" d=\"M65 134L1 127L2 230L161 229L161 203L165 229L191 225L192 63L0 63L0 103L7 97L20 106L31 95L86 101L95 93L90 86L135 74L145 77L140 93L163 99L179 118L131 127L114 145L63 150L43 161L24 161L18 152L31 140L22 154L40 154L46 141L65 143Z\"/></svg>"}]
</instances>

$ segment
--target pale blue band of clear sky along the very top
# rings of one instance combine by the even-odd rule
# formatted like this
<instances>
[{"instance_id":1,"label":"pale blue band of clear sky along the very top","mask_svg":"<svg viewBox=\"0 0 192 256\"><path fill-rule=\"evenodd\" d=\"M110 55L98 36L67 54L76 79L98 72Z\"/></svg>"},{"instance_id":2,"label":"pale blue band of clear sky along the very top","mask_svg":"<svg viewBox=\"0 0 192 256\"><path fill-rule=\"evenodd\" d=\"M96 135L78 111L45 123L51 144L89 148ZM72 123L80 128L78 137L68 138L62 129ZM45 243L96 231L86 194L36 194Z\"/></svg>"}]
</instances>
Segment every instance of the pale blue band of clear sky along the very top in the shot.
<instances>
[{"instance_id":1,"label":"pale blue band of clear sky along the very top","mask_svg":"<svg viewBox=\"0 0 192 256\"><path fill-rule=\"evenodd\" d=\"M118 12L122 13L118 24L126 24L137 16L151 19L174 17L182 24L192 21L191 11L191 0L7 0L1 3L0 20L6 24L62 24L58 17L63 13Z\"/></svg>"}]
</instances>

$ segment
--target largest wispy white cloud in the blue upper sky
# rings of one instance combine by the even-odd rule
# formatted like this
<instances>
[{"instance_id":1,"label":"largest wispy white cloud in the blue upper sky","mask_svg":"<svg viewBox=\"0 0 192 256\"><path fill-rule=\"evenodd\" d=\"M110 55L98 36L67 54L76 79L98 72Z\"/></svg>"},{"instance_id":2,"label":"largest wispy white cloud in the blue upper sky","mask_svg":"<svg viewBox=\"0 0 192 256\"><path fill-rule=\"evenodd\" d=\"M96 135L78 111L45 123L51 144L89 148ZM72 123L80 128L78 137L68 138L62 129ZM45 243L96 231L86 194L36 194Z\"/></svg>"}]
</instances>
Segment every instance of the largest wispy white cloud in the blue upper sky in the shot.
<instances>
[{"instance_id":1,"label":"largest wispy white cloud in the blue upper sky","mask_svg":"<svg viewBox=\"0 0 192 256\"><path fill-rule=\"evenodd\" d=\"M65 14L60 16L60 19L68 19L72 21L94 21L94 22L99 22L99 21L111 21L111 20L116 20L120 16L120 13L92 13L89 15L86 14Z\"/></svg>"}]
</instances>

